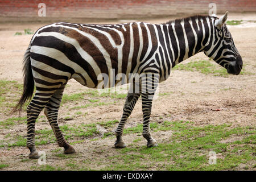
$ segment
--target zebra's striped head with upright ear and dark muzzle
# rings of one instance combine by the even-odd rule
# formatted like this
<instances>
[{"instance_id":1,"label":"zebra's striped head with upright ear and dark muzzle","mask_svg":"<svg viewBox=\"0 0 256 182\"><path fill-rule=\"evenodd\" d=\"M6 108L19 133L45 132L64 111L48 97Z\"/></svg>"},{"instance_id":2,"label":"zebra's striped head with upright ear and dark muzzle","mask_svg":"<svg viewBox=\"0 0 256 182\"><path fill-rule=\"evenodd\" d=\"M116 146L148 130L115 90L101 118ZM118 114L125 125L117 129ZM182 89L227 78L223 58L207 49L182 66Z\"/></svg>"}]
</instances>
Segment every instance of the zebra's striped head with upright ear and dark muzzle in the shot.
<instances>
[{"instance_id":1,"label":"zebra's striped head with upright ear and dark muzzle","mask_svg":"<svg viewBox=\"0 0 256 182\"><path fill-rule=\"evenodd\" d=\"M228 11L220 19L217 17L212 18L212 42L211 46L205 48L204 53L216 61L216 63L226 68L228 73L239 75L243 61L225 24L228 18Z\"/></svg>"}]
</instances>

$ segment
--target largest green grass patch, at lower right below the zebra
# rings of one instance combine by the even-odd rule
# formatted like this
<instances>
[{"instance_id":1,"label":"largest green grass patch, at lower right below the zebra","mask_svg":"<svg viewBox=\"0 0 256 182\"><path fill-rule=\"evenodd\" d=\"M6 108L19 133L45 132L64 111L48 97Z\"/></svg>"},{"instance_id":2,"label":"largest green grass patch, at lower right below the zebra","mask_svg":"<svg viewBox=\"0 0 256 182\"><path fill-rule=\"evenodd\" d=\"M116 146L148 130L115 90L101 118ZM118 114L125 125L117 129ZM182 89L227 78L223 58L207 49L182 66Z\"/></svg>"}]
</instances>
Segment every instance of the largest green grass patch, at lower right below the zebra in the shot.
<instances>
[{"instance_id":1,"label":"largest green grass patch, at lower right below the zebra","mask_svg":"<svg viewBox=\"0 0 256 182\"><path fill-rule=\"evenodd\" d=\"M230 170L241 164L251 169L255 164L255 127L207 125L197 127L189 121L152 123L151 133L172 131L172 136L158 147L147 148L137 144L122 148L119 155L109 157L106 170ZM140 133L142 125L125 129L124 133ZM222 142L234 136L241 139ZM146 141L145 141L146 143ZM209 164L209 152L217 154L217 163ZM220 157L221 156L221 157Z\"/></svg>"}]
</instances>

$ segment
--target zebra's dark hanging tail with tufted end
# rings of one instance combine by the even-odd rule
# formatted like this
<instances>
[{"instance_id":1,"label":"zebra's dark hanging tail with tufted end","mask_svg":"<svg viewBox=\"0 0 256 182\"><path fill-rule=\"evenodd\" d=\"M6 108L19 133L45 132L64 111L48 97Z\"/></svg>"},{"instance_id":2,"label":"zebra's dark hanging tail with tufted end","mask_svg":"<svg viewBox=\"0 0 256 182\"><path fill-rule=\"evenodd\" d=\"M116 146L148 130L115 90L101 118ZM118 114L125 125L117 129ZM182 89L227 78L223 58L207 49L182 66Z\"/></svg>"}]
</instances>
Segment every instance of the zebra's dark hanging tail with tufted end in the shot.
<instances>
[{"instance_id":1,"label":"zebra's dark hanging tail with tufted end","mask_svg":"<svg viewBox=\"0 0 256 182\"><path fill-rule=\"evenodd\" d=\"M30 44L30 46L28 46L27 51L24 54L24 59L23 59L23 64L24 64L24 66L23 66L23 77L24 77L23 93L19 99L18 104L11 111L11 114L13 114L17 110L19 110L19 114L20 114L20 110L22 110L23 105L27 101L30 101L33 96L35 83L34 83L34 77L32 75L31 60L30 60L30 48L31 48L31 44Z\"/></svg>"}]
</instances>

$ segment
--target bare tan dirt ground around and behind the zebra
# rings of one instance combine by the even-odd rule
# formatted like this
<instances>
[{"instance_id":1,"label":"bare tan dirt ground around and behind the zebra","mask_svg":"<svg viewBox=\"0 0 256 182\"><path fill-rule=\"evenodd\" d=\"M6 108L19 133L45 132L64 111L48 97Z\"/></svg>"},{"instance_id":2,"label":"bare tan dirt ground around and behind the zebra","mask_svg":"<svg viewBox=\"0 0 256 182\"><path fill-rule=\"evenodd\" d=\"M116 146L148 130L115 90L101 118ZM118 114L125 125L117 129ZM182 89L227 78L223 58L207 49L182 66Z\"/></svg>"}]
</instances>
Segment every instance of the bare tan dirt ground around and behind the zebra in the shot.
<instances>
[{"instance_id":1,"label":"bare tan dirt ground around and behind the zebra","mask_svg":"<svg viewBox=\"0 0 256 182\"><path fill-rule=\"evenodd\" d=\"M163 23L169 19L152 19L147 20L150 23ZM151 120L158 122L163 120L171 121L193 121L195 126L204 125L221 125L229 123L232 126L255 126L256 121L256 14L231 14L229 20L243 20L238 26L228 26L232 33L234 42L238 51L240 52L246 72L251 74L245 75L229 75L228 77L213 76L211 74L203 74L200 72L191 72L183 70L172 71L168 80L159 85L159 96L153 102ZM141 21L141 20L139 20ZM119 21L124 22L124 21ZM89 22L93 23L93 22ZM97 22L104 23L104 22ZM108 22L117 23L117 22ZM22 58L27 49L28 43L32 35L14 36L15 32L23 32L25 28L31 28L36 31L44 24L0 24L0 80L15 80L22 84ZM209 60L204 53L199 53L184 63L193 60ZM85 92L88 88L81 86L75 80L68 82L64 94L73 94L78 92ZM170 93L170 94L164 94ZM85 101L88 98L84 98ZM104 98L102 98L104 100ZM59 118L64 118L67 113L75 115L70 121L63 121L60 119L60 125L64 123L95 123L97 121L109 121L121 118L122 108L125 98L114 99L116 102L110 105L101 105L97 107L86 107L81 109L82 113L86 115L75 115L69 108L77 106L76 102L68 102L61 106L59 111ZM83 105L85 101L78 101L78 104ZM113 102L111 98L106 98L104 102ZM142 123L141 99L135 106L133 113L127 121L126 127L131 127L137 123ZM24 117L26 113L22 112ZM43 115L43 114L41 114ZM16 116L11 117L18 117ZM1 113L0 121L10 118L7 113ZM11 129L0 130L0 140L9 133L18 133L19 135L26 135L26 125L13 126ZM36 123L36 130L48 128L48 123ZM104 133L104 129L100 129ZM153 133L153 137L162 142L170 138L172 132ZM131 143L136 137L134 134L127 134L123 137L126 144ZM105 138L98 140L91 140L92 138L84 139L81 143L73 144L76 148L79 158L84 160L93 160L99 158L104 160L106 156L117 155L118 151L113 148L115 138ZM142 139L139 144L145 145L146 140ZM38 151L44 150L46 152L56 150L58 148L56 143L44 144L38 146ZM97 152L100 150L108 152ZM31 166L35 165L30 162L20 163L20 160L27 159L28 149L26 147L14 147L8 150L7 147L0 148L0 162L8 164L7 170L30 170ZM54 156L47 157L47 163L55 164L62 163L60 159ZM97 165L91 166L93 169L100 169ZM152 168L154 169L154 168ZM255 168L254 168L255 169Z\"/></svg>"}]
</instances>

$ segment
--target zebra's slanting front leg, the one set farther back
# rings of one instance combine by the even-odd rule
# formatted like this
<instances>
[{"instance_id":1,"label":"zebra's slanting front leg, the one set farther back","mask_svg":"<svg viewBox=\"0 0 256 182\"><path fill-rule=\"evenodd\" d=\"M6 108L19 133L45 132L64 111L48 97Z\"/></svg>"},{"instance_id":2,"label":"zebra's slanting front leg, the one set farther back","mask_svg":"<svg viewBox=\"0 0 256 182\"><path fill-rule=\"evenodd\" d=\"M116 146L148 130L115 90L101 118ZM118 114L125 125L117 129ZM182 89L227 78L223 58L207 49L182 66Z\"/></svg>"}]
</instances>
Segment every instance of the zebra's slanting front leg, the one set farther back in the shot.
<instances>
[{"instance_id":1,"label":"zebra's slanting front leg, the one set farther back","mask_svg":"<svg viewBox=\"0 0 256 182\"><path fill-rule=\"evenodd\" d=\"M121 121L119 122L119 125L117 129L115 130L115 136L117 137L117 140L115 141L114 145L116 148L124 148L125 142L123 142L122 134L123 134L123 128L125 127L125 123L127 121L127 118L130 116L131 112L133 111L133 108L138 101L139 96L141 96L140 93L129 93L127 94L125 106L123 106L123 114Z\"/></svg>"}]
</instances>

